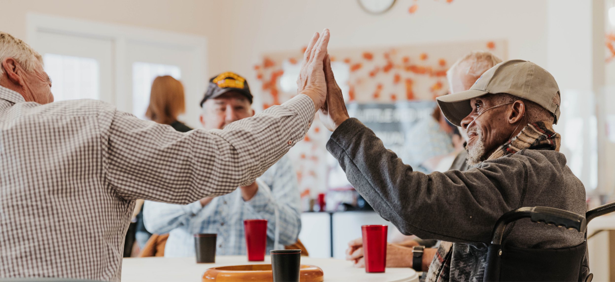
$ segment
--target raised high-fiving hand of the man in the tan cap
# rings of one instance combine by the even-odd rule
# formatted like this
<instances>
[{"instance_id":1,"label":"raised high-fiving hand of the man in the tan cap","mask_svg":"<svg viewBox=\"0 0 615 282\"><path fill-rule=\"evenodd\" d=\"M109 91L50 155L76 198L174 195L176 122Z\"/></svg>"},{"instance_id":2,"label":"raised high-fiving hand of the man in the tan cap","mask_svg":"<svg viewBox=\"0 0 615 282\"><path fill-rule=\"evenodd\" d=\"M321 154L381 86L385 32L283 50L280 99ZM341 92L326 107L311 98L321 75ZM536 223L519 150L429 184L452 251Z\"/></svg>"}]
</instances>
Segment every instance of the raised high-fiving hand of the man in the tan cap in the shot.
<instances>
[{"instance_id":1,"label":"raised high-fiving hand of the man in the tan cap","mask_svg":"<svg viewBox=\"0 0 615 282\"><path fill-rule=\"evenodd\" d=\"M331 70L331 60L329 55L325 58L325 79L327 80L327 99L319 110L320 121L330 131L335 131L339 124L349 119L348 111L346 110L346 103L344 103L344 97L341 89L339 89L338 83L336 83L333 77L333 70Z\"/></svg>"}]
</instances>

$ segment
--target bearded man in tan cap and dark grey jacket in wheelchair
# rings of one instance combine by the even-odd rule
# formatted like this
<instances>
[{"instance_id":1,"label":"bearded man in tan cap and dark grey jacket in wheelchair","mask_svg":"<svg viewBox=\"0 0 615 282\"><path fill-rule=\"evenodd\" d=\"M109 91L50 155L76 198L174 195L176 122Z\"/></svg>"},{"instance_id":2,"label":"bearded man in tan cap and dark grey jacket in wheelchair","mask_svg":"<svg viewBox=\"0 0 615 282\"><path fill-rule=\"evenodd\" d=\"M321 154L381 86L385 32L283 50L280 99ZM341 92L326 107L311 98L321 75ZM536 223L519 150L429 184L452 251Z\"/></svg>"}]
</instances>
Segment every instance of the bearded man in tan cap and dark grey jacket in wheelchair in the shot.
<instances>
[{"instance_id":1,"label":"bearded man in tan cap and dark grey jacket in wheelchair","mask_svg":"<svg viewBox=\"0 0 615 282\"><path fill-rule=\"evenodd\" d=\"M437 97L446 118L468 134L468 171L423 174L386 150L373 131L349 118L330 65L320 119L334 131L327 149L348 180L399 230L443 243L429 281L482 281L496 220L519 207L557 207L585 214L585 188L559 152L552 124L560 92L535 63L508 60L486 71L468 91ZM504 244L558 249L584 243L584 234L529 219L510 224ZM589 273L587 254L580 277Z\"/></svg>"}]
</instances>

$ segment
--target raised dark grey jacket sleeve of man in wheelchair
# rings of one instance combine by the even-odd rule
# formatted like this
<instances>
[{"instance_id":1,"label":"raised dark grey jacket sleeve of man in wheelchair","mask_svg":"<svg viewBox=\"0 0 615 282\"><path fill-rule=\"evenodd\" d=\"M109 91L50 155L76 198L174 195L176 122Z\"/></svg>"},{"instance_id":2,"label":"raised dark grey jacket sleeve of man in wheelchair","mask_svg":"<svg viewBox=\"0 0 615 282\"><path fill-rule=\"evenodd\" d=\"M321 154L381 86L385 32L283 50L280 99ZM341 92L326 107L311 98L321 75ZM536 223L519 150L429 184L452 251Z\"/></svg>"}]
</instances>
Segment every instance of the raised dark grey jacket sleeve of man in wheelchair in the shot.
<instances>
[{"instance_id":1,"label":"raised dark grey jacket sleeve of man in wheelchair","mask_svg":"<svg viewBox=\"0 0 615 282\"><path fill-rule=\"evenodd\" d=\"M333 132L327 149L380 216L423 239L490 241L496 220L517 208L525 184L527 168L516 158L485 161L466 172L413 171L354 118Z\"/></svg>"}]
</instances>

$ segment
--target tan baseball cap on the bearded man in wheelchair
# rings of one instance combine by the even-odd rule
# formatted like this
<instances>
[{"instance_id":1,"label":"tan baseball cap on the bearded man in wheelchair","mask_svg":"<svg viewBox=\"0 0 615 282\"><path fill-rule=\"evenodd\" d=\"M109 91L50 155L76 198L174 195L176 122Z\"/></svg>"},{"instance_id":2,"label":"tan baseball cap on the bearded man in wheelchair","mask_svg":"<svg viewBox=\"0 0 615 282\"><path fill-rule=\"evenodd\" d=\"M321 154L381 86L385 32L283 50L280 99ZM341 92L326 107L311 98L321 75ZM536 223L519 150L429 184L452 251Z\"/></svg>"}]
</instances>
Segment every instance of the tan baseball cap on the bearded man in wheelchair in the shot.
<instances>
[{"instance_id":1,"label":"tan baseball cap on the bearded man in wheelchair","mask_svg":"<svg viewBox=\"0 0 615 282\"><path fill-rule=\"evenodd\" d=\"M446 119L456 126L472 113L470 99L493 93L507 93L541 105L560 118L560 105L555 95L560 95L555 78L544 68L524 60L507 60L485 71L467 91L437 97L438 106Z\"/></svg>"}]
</instances>

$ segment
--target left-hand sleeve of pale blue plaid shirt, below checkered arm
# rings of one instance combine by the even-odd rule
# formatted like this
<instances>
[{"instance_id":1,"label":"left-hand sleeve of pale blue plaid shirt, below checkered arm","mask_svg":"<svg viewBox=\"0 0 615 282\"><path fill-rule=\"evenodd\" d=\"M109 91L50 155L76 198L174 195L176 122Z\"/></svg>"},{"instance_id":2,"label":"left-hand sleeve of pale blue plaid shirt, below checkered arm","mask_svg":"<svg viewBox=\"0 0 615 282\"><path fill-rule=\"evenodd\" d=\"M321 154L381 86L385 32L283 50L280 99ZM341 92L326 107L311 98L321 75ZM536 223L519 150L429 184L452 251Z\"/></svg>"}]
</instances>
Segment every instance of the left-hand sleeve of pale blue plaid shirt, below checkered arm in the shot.
<instances>
[{"instance_id":1,"label":"left-hand sleeve of pale blue plaid shirt, below checkered arm","mask_svg":"<svg viewBox=\"0 0 615 282\"><path fill-rule=\"evenodd\" d=\"M201 209L199 201L186 205L145 201L143 223L150 233L165 234L188 225Z\"/></svg>"}]
</instances>

